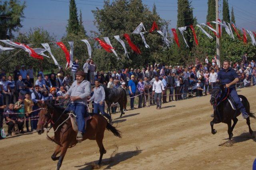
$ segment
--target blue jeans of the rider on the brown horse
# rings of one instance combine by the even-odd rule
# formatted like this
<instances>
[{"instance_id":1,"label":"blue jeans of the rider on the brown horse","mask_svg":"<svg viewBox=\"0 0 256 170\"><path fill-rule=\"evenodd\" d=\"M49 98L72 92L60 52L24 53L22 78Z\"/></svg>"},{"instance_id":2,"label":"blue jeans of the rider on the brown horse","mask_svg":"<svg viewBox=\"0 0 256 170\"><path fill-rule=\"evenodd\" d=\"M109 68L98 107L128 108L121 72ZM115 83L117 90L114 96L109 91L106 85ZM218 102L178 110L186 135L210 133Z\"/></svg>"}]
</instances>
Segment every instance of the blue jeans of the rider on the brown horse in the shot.
<instances>
[{"instance_id":1,"label":"blue jeans of the rider on the brown horse","mask_svg":"<svg viewBox=\"0 0 256 170\"><path fill-rule=\"evenodd\" d=\"M73 111L76 114L76 122L78 126L78 131L85 133L85 120L84 116L88 116L86 111L86 106L82 103L71 103L67 111Z\"/></svg>"}]
</instances>

